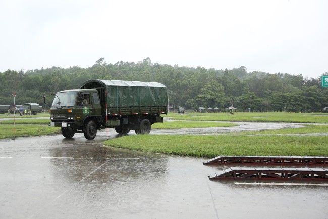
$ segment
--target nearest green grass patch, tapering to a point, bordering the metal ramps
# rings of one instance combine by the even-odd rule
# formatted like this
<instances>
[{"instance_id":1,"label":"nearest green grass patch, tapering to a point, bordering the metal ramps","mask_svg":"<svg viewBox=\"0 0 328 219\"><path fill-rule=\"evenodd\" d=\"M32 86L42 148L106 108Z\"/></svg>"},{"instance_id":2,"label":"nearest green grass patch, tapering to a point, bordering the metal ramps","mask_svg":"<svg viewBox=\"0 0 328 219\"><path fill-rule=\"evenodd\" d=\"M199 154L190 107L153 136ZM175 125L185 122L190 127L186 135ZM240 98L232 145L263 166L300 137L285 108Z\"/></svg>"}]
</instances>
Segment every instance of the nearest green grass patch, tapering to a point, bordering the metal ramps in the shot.
<instances>
[{"instance_id":1,"label":"nearest green grass patch, tapering to a point, bordering the metal ramps","mask_svg":"<svg viewBox=\"0 0 328 219\"><path fill-rule=\"evenodd\" d=\"M172 155L328 156L326 136L196 136L131 135L104 142L106 146Z\"/></svg>"}]
</instances>

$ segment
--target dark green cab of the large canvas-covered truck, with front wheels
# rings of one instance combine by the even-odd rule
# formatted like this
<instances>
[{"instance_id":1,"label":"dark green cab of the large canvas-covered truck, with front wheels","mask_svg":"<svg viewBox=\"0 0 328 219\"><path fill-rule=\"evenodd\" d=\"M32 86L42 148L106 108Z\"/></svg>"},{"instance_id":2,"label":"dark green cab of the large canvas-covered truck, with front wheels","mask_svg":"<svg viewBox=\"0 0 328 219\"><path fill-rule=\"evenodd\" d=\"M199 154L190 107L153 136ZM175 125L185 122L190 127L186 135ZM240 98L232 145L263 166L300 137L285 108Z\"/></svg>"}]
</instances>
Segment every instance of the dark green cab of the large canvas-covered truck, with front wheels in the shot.
<instances>
[{"instance_id":1,"label":"dark green cab of the large canvas-covered truck, with front wheels","mask_svg":"<svg viewBox=\"0 0 328 219\"><path fill-rule=\"evenodd\" d=\"M49 110L49 126L61 127L62 134L71 138L83 133L94 139L103 125L99 95L96 89L73 89L58 92Z\"/></svg>"}]
</instances>

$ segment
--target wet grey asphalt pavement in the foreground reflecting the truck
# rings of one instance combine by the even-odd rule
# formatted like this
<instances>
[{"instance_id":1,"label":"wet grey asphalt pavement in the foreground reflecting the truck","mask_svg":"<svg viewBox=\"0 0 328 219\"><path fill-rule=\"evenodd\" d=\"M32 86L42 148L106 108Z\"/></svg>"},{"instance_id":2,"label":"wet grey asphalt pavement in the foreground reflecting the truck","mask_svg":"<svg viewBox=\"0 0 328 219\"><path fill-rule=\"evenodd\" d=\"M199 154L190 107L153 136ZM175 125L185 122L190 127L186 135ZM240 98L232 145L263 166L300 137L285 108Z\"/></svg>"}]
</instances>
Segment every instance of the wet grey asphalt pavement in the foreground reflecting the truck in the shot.
<instances>
[{"instance_id":1,"label":"wet grey asphalt pavement in the foreground reflecting the truck","mask_svg":"<svg viewBox=\"0 0 328 219\"><path fill-rule=\"evenodd\" d=\"M185 130L151 134L178 132ZM108 137L117 137L113 129ZM0 218L327 218L326 184L210 181L209 174L228 167L106 148L104 140L105 131L95 140L83 134L0 140Z\"/></svg>"}]
</instances>

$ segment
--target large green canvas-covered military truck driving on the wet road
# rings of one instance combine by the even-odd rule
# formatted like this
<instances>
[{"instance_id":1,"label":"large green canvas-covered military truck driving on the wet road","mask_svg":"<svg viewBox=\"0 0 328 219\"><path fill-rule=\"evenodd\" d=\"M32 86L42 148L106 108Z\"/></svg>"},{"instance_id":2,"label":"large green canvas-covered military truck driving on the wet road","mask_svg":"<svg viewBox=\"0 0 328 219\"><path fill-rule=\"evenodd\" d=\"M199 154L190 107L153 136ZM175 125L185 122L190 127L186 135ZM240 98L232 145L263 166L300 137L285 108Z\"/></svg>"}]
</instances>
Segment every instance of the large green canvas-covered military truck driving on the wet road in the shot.
<instances>
[{"instance_id":1,"label":"large green canvas-covered military truck driving on the wet road","mask_svg":"<svg viewBox=\"0 0 328 219\"><path fill-rule=\"evenodd\" d=\"M61 127L65 138L83 133L94 139L97 130L115 128L126 135L149 133L151 125L163 122L168 113L167 87L157 82L85 81L80 89L58 92L49 110L49 126Z\"/></svg>"}]
</instances>

